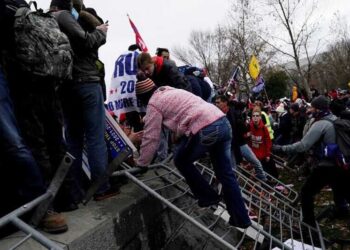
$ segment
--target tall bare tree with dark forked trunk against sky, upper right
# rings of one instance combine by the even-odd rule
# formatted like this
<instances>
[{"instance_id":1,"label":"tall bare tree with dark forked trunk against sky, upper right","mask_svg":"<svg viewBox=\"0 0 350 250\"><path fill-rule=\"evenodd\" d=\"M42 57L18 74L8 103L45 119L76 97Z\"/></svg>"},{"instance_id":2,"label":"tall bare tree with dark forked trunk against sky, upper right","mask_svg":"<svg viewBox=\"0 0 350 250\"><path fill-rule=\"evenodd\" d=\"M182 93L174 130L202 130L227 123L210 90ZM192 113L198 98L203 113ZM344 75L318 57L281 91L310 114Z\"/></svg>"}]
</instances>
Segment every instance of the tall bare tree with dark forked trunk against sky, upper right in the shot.
<instances>
[{"instance_id":1,"label":"tall bare tree with dark forked trunk against sky, upper right","mask_svg":"<svg viewBox=\"0 0 350 250\"><path fill-rule=\"evenodd\" d=\"M288 39L284 38L284 34L274 35L273 32L265 34L265 38L261 36L278 52L294 61L299 80L308 95L310 95L309 80L312 65L320 48L320 40L316 44L313 44L314 41L312 41L318 27L317 22L312 22L317 2L314 0L311 4L310 2L307 0L268 0L268 6L272 8L271 14L274 20L283 27ZM307 4L310 6L307 7ZM314 47L313 53L310 53L310 46ZM302 65L301 58L306 58L304 65Z\"/></svg>"}]
</instances>

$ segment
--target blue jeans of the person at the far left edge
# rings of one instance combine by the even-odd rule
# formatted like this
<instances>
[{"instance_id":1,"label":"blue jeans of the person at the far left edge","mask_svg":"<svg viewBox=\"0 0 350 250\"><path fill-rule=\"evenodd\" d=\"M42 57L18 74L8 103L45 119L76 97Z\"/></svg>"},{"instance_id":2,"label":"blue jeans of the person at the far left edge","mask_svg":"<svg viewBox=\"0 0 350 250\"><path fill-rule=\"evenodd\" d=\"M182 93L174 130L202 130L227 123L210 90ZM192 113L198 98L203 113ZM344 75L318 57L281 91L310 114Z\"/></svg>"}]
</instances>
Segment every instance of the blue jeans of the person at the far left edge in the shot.
<instances>
[{"instance_id":1,"label":"blue jeans of the person at the far left edge","mask_svg":"<svg viewBox=\"0 0 350 250\"><path fill-rule=\"evenodd\" d=\"M10 167L11 173L14 174L13 176L5 176L9 178L6 181L16 186L15 188L23 198L23 202L28 202L44 193L46 189L40 169L20 135L13 113L8 83L1 68L0 114L0 150L1 154L4 154L5 164Z\"/></svg>"}]
</instances>

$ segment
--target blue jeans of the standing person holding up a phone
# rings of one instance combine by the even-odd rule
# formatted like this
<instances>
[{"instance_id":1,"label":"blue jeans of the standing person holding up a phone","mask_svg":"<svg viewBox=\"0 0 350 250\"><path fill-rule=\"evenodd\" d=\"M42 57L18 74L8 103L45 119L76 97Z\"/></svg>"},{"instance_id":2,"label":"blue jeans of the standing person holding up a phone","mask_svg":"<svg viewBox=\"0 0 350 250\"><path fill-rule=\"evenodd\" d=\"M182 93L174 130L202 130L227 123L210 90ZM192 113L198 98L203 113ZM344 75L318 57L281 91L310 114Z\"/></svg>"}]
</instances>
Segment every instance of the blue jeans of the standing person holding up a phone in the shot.
<instances>
[{"instance_id":1,"label":"blue jeans of the standing person holding up a phone","mask_svg":"<svg viewBox=\"0 0 350 250\"><path fill-rule=\"evenodd\" d=\"M84 195L82 151L86 145L91 171L91 181L96 181L107 168L107 146L104 140L105 108L102 88L99 83L73 83L62 92L62 105L66 125L68 151L76 158L72 174L80 194ZM103 184L97 193L109 188ZM76 197L79 199L80 197Z\"/></svg>"}]
</instances>

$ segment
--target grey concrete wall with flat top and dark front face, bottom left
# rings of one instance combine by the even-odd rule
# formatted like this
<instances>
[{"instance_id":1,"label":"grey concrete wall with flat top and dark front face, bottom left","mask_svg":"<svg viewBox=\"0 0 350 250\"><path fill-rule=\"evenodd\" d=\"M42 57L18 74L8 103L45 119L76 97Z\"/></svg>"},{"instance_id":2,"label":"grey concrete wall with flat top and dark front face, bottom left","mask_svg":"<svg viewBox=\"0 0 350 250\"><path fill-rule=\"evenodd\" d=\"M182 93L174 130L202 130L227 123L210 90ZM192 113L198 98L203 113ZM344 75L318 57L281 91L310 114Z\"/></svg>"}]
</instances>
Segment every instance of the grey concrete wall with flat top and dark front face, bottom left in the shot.
<instances>
[{"instance_id":1,"label":"grey concrete wall with flat top and dark front face, bottom left","mask_svg":"<svg viewBox=\"0 0 350 250\"><path fill-rule=\"evenodd\" d=\"M149 172L147 175L152 175ZM158 186L161 180L152 182ZM164 184L164 183L163 183ZM182 199L181 203L186 199ZM192 200L193 202L193 200ZM91 201L87 206L65 213L68 232L59 235L44 233L69 250L112 249L221 249L178 214L149 196L131 181L121 188L121 194L105 201ZM181 227L181 230L178 230ZM174 232L177 232L174 236ZM7 250L23 238L18 232L0 240L0 250ZM46 249L33 240L21 250Z\"/></svg>"}]
</instances>

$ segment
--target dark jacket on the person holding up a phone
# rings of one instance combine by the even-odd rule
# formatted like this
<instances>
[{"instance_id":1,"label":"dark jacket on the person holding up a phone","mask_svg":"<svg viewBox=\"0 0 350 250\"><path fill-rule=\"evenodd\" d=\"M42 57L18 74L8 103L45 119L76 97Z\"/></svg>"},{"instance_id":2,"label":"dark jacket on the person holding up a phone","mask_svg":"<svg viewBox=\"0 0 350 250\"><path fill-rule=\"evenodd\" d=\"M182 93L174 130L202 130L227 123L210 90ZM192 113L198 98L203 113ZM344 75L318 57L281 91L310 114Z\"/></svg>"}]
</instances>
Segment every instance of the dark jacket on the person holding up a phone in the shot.
<instances>
[{"instance_id":1,"label":"dark jacket on the person holding up a phone","mask_svg":"<svg viewBox=\"0 0 350 250\"><path fill-rule=\"evenodd\" d=\"M96 29L89 33L74 19L69 11L55 12L60 29L65 33L74 52L73 81L100 82L100 72L96 61L98 48L106 43L106 34Z\"/></svg>"}]
</instances>

